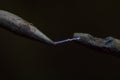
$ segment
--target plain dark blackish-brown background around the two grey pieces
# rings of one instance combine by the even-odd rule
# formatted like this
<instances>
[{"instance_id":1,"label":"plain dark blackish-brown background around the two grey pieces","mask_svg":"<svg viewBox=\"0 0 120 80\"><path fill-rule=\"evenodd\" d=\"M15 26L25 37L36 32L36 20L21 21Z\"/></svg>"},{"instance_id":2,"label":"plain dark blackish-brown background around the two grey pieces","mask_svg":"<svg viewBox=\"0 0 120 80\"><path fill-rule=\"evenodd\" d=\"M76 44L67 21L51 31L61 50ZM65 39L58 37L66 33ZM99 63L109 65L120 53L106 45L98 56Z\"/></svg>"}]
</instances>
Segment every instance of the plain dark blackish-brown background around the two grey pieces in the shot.
<instances>
[{"instance_id":1,"label":"plain dark blackish-brown background around the two grey pieces","mask_svg":"<svg viewBox=\"0 0 120 80\"><path fill-rule=\"evenodd\" d=\"M74 32L120 38L119 0L1 0L54 41ZM56 47L0 29L0 80L116 80L120 57L78 43Z\"/></svg>"}]
</instances>

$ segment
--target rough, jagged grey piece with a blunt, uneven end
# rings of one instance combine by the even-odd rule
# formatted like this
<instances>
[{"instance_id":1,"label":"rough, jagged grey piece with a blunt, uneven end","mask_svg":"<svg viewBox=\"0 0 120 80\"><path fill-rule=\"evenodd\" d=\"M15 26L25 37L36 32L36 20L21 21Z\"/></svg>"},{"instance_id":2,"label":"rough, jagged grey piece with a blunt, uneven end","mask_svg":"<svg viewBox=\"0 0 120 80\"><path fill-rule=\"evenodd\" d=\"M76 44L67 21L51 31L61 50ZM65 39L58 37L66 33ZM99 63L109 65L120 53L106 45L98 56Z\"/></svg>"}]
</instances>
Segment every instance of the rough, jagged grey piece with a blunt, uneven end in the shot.
<instances>
[{"instance_id":1,"label":"rough, jagged grey piece with a blunt, uneven end","mask_svg":"<svg viewBox=\"0 0 120 80\"><path fill-rule=\"evenodd\" d=\"M106 37L103 39L93 37L92 35L86 33L74 33L73 37L80 38L77 41L82 44L86 44L96 48L101 48L102 50L120 52L120 40L114 37Z\"/></svg>"}]
</instances>

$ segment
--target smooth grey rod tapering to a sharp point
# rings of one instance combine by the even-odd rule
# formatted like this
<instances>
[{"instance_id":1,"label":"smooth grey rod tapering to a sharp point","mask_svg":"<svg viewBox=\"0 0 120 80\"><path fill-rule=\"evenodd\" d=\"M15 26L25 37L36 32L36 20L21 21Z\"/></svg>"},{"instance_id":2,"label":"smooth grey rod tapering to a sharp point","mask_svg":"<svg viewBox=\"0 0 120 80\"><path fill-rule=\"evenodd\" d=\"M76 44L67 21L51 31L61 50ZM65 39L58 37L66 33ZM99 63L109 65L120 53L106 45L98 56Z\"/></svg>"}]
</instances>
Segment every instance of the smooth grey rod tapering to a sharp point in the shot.
<instances>
[{"instance_id":1,"label":"smooth grey rod tapering to a sharp point","mask_svg":"<svg viewBox=\"0 0 120 80\"><path fill-rule=\"evenodd\" d=\"M39 40L44 43L54 44L50 38L48 38L31 23L10 12L0 10L0 25L11 32Z\"/></svg>"}]
</instances>

